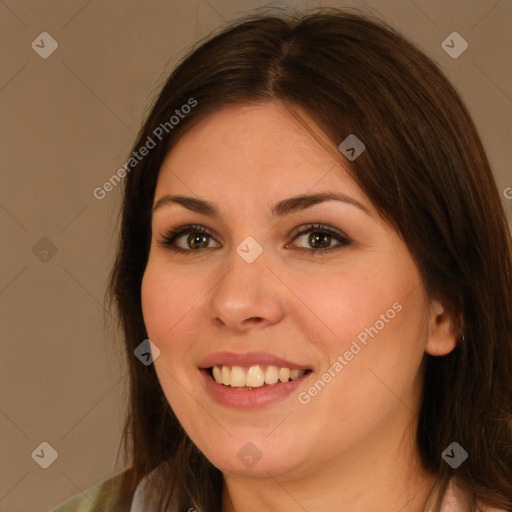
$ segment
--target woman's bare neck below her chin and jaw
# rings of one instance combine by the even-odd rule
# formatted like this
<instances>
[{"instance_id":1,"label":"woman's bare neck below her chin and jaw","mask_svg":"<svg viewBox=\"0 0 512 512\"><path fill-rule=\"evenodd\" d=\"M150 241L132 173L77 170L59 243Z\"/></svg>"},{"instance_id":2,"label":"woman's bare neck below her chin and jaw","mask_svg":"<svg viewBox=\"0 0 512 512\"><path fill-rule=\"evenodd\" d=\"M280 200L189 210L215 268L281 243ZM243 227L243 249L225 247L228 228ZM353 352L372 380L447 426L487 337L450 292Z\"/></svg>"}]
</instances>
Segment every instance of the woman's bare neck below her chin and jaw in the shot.
<instances>
[{"instance_id":1,"label":"woman's bare neck below her chin and jaw","mask_svg":"<svg viewBox=\"0 0 512 512\"><path fill-rule=\"evenodd\" d=\"M302 471L224 477L222 512L424 512L435 478L421 468L410 425L394 445L380 435ZM396 437L395 437L396 439Z\"/></svg>"}]
</instances>

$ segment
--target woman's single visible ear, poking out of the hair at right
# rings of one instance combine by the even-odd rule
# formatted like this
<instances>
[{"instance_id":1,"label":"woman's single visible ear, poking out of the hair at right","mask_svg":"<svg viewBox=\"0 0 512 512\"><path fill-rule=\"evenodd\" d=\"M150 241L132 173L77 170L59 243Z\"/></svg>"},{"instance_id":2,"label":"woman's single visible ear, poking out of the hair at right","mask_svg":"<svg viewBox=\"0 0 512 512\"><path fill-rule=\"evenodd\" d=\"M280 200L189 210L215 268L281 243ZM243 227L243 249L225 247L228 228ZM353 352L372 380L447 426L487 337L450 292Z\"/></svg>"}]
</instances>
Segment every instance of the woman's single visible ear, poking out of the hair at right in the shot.
<instances>
[{"instance_id":1,"label":"woman's single visible ear, poking out of the hair at right","mask_svg":"<svg viewBox=\"0 0 512 512\"><path fill-rule=\"evenodd\" d=\"M460 320L460 319L459 319ZM433 301L430 307L428 322L428 339L425 351L431 356L444 356L449 354L461 337L460 325L453 315L438 301Z\"/></svg>"}]
</instances>

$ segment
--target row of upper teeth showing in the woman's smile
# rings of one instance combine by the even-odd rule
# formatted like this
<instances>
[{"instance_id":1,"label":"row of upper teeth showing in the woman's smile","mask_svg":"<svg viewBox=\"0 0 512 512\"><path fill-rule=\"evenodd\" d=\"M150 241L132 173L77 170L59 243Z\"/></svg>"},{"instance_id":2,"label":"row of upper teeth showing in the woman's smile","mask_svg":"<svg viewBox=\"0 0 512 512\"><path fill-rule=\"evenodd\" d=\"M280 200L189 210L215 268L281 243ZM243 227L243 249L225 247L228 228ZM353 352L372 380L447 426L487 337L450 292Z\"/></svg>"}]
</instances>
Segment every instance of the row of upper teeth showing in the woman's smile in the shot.
<instances>
[{"instance_id":1,"label":"row of upper teeth showing in the woman's smile","mask_svg":"<svg viewBox=\"0 0 512 512\"><path fill-rule=\"evenodd\" d=\"M214 366L213 378L218 384L241 388L259 388L264 384L275 384L277 381L288 382L304 375L306 370L278 368L267 366L265 370L260 365L251 366L245 371L241 366Z\"/></svg>"}]
</instances>

